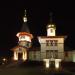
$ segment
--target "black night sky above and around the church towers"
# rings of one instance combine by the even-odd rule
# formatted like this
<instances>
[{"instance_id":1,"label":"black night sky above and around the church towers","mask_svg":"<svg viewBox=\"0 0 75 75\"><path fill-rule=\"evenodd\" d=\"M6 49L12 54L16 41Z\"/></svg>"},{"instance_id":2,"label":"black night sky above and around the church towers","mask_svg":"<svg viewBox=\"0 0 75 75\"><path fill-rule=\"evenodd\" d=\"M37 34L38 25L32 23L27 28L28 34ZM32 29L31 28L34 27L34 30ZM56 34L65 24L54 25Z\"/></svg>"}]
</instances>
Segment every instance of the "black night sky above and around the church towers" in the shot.
<instances>
[{"instance_id":1,"label":"black night sky above and around the church towers","mask_svg":"<svg viewBox=\"0 0 75 75\"><path fill-rule=\"evenodd\" d=\"M23 24L22 17L27 9L28 27L34 38L46 35L49 13L53 12L53 23L57 35L67 35L65 46L75 49L75 3L54 0L17 0L0 3L0 51L8 52L17 45L16 33Z\"/></svg>"}]
</instances>

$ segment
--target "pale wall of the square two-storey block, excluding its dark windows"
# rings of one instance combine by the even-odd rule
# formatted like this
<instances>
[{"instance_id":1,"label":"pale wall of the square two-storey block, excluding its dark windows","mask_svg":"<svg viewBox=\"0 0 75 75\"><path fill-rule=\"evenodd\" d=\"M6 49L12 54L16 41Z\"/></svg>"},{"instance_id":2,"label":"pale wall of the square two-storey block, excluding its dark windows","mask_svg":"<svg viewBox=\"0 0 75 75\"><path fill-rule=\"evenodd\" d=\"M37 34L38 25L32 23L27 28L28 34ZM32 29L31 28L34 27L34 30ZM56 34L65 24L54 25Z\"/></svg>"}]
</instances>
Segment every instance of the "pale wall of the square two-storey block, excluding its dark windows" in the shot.
<instances>
[{"instance_id":1,"label":"pale wall of the square two-storey block, excluding its dark windows","mask_svg":"<svg viewBox=\"0 0 75 75\"><path fill-rule=\"evenodd\" d=\"M57 40L57 46L47 46L46 40ZM41 44L42 58L46 58L47 50L58 50L58 58L64 59L64 38L42 38L39 37L39 42Z\"/></svg>"}]
</instances>

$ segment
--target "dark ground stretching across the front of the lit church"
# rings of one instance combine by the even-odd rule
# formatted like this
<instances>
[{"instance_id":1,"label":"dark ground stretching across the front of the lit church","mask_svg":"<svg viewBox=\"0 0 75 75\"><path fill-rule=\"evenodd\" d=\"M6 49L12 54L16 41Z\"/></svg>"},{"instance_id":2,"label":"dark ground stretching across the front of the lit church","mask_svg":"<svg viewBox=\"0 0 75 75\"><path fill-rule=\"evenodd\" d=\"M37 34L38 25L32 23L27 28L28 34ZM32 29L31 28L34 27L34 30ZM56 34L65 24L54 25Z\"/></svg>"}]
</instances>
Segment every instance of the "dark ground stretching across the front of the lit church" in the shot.
<instances>
[{"instance_id":1,"label":"dark ground stretching across the front of the lit church","mask_svg":"<svg viewBox=\"0 0 75 75\"><path fill-rule=\"evenodd\" d=\"M34 65L35 64L35 65ZM42 64L42 63L41 63ZM45 68L38 63L8 64L0 66L0 75L75 75L66 68Z\"/></svg>"}]
</instances>

